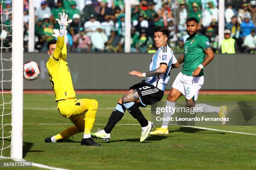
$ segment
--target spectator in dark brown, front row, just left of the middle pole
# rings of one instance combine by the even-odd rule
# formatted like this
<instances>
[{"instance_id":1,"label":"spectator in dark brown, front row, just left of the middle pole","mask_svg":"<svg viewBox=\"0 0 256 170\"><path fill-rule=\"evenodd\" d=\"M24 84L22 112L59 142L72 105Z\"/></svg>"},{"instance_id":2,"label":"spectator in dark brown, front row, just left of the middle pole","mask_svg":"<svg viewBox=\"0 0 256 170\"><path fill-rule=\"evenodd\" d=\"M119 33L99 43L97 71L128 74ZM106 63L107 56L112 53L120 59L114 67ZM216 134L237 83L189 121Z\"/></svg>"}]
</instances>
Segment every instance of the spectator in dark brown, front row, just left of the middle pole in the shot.
<instances>
[{"instance_id":1,"label":"spectator in dark brown, front row, just left of the middle pole","mask_svg":"<svg viewBox=\"0 0 256 170\"><path fill-rule=\"evenodd\" d=\"M106 50L108 52L122 52L121 37L116 34L115 28L111 29L110 34L110 38L106 43Z\"/></svg>"}]
</instances>

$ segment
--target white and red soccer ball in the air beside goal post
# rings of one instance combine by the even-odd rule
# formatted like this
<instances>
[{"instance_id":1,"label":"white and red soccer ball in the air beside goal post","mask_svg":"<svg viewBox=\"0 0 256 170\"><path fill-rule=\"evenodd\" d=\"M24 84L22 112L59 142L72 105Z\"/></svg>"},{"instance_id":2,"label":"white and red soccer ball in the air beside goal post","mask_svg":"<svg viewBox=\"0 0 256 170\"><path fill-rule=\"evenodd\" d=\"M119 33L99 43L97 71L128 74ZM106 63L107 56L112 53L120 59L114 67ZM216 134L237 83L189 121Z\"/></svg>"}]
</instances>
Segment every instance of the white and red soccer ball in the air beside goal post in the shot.
<instances>
[{"instance_id":1,"label":"white and red soccer ball in the air beside goal post","mask_svg":"<svg viewBox=\"0 0 256 170\"><path fill-rule=\"evenodd\" d=\"M35 80L40 74L40 68L34 61L25 62L23 65L23 77L26 80Z\"/></svg>"}]
</instances>

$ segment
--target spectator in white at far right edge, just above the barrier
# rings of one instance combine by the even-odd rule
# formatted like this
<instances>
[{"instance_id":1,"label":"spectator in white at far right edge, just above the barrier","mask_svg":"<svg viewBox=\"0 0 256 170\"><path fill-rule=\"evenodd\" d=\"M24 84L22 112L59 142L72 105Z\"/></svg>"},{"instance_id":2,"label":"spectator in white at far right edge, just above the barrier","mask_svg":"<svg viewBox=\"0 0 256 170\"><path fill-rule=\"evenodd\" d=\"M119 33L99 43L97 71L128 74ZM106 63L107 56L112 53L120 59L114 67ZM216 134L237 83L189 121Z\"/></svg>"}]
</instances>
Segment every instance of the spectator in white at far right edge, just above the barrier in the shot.
<instances>
[{"instance_id":1,"label":"spectator in white at far right edge, just above the barrier","mask_svg":"<svg viewBox=\"0 0 256 170\"><path fill-rule=\"evenodd\" d=\"M255 53L255 50L256 50L255 29L251 29L251 34L245 37L243 44L246 49L246 52Z\"/></svg>"}]
</instances>

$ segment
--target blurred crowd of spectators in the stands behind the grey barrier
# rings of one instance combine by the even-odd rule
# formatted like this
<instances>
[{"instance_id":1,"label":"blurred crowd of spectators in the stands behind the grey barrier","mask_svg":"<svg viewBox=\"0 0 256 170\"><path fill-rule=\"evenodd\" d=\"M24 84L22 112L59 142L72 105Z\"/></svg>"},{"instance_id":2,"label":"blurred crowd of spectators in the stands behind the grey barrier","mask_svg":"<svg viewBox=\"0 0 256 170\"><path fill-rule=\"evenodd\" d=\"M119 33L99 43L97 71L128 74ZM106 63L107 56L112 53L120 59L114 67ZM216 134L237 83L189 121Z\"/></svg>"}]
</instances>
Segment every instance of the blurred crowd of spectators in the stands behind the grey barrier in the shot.
<instances>
[{"instance_id":1,"label":"blurred crowd of spectators in the stands behind the grey barrier","mask_svg":"<svg viewBox=\"0 0 256 170\"><path fill-rule=\"evenodd\" d=\"M11 46L12 2L0 0L0 40ZM28 0L24 2L24 50L28 50ZM218 49L218 0L130 0L131 52L154 53L154 28L169 29L169 46L182 52L188 37L186 20L195 17L200 33L215 52L255 53L256 0L225 0L225 39ZM55 18L67 13L73 22L66 36L69 52L123 52L124 0L35 0L35 50L47 51L47 42L59 25ZM8 36L9 35L9 36ZM10 49L5 48L4 51Z\"/></svg>"}]
</instances>

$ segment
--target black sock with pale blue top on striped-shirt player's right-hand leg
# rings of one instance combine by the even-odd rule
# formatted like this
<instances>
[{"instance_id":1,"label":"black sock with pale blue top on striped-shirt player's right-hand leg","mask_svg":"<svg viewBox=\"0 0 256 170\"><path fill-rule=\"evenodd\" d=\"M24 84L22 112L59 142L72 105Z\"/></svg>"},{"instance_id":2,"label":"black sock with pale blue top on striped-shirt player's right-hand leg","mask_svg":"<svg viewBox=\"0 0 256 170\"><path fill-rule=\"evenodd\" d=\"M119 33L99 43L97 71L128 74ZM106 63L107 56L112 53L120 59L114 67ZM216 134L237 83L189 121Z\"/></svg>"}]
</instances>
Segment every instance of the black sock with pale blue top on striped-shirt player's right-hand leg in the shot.
<instances>
[{"instance_id":1,"label":"black sock with pale blue top on striped-shirt player's right-hand leg","mask_svg":"<svg viewBox=\"0 0 256 170\"><path fill-rule=\"evenodd\" d=\"M138 122L141 124L141 127L145 127L148 125L148 120L143 116L141 110L139 109L136 102L128 102L123 103L127 111L138 120Z\"/></svg>"}]
</instances>

